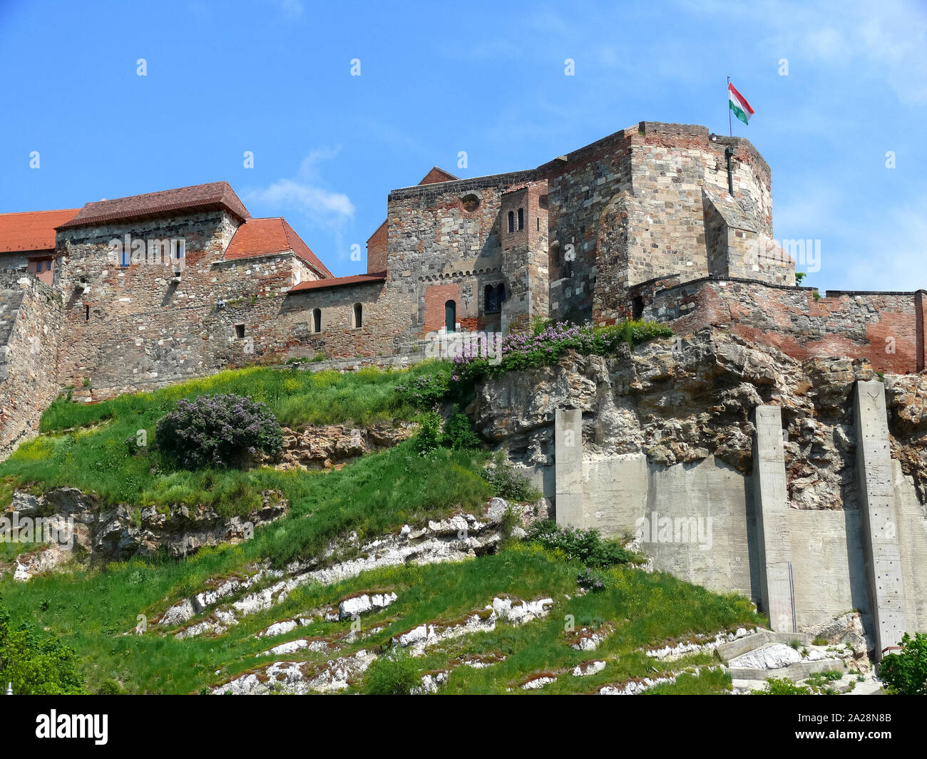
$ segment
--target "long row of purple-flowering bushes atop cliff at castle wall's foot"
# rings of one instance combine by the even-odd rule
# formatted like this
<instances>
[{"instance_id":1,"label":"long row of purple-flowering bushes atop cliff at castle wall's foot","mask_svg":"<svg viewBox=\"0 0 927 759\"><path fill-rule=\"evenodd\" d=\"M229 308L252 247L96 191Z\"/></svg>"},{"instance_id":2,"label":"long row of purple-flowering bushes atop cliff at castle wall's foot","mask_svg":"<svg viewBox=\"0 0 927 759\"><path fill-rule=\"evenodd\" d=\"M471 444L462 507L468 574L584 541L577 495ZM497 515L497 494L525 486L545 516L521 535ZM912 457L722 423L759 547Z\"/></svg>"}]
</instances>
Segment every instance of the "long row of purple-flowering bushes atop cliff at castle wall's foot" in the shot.
<instances>
[{"instance_id":1,"label":"long row of purple-flowering bushes atop cliff at castle wall's foot","mask_svg":"<svg viewBox=\"0 0 927 759\"><path fill-rule=\"evenodd\" d=\"M619 345L635 346L654 337L668 337L672 330L656 322L628 321L607 327L567 323L540 323L530 333L510 333L502 338L502 358L490 362L473 350L453 360L451 389L472 386L485 376L499 376L536 366L556 363L566 350L583 355L614 353ZM470 348L469 346L467 348Z\"/></svg>"}]
</instances>

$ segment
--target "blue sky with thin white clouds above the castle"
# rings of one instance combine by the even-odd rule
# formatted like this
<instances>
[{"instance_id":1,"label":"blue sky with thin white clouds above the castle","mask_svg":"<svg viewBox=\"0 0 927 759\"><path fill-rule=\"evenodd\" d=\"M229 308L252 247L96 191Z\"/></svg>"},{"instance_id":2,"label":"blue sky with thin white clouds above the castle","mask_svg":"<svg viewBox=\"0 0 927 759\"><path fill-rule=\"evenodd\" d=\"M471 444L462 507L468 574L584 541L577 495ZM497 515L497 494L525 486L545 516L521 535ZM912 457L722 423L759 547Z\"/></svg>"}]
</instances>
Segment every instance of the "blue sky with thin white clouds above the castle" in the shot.
<instances>
[{"instance_id":1,"label":"blue sky with thin white clouds above the castle","mask_svg":"<svg viewBox=\"0 0 927 759\"><path fill-rule=\"evenodd\" d=\"M911 290L925 51L922 1L0 0L0 211L227 180L357 273L388 191L431 166L532 168L640 120L723 133L730 75L756 109L734 133L772 167L775 236L821 241L806 284Z\"/></svg>"}]
</instances>

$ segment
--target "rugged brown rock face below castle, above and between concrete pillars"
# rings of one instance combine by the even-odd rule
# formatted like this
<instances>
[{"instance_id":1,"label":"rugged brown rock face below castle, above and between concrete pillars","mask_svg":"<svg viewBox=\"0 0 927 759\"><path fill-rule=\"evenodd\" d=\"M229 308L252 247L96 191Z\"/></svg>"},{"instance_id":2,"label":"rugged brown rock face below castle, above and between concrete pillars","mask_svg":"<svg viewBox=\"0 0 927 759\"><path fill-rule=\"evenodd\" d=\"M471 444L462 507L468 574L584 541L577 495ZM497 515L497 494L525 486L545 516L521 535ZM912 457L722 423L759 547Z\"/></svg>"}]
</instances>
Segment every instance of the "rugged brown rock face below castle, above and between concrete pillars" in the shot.
<instances>
[{"instance_id":1,"label":"rugged brown rock face below castle, above and between concrete pillars","mask_svg":"<svg viewBox=\"0 0 927 759\"><path fill-rule=\"evenodd\" d=\"M477 388L467 411L480 434L514 462L553 462L557 408L583 412L591 458L642 453L654 464L713 455L749 474L757 405L782 408L790 503L856 505L857 380L878 378L865 360L796 361L719 330L654 340L616 356L567 354L557 365L510 373ZM927 501L927 378L884 375L892 455Z\"/></svg>"}]
</instances>

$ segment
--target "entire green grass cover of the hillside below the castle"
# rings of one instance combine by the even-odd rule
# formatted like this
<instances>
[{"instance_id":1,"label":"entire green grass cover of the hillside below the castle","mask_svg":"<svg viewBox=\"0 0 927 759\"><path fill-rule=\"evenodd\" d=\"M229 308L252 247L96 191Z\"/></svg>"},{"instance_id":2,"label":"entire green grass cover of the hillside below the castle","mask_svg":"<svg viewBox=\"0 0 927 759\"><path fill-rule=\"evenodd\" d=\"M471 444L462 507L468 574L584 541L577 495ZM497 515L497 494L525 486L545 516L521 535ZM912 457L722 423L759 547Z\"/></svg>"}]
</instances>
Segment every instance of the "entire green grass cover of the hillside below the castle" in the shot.
<instances>
[{"instance_id":1,"label":"entire green grass cover of the hillside below the castle","mask_svg":"<svg viewBox=\"0 0 927 759\"><path fill-rule=\"evenodd\" d=\"M139 614L154 619L177 601L215 587L223 577L248 574L256 563L282 567L295 558L318 556L333 538L352 531L363 540L458 510L476 513L499 494L498 482L483 476L489 454L478 449L438 448L420 455L412 440L329 473L269 467L186 472L172 470L153 446L133 449L127 438L145 429L153 442L155 424L177 398L218 392L250 395L284 424L422 419L433 388L446 385L446 377L447 367L437 363L411 372L352 374L247 369L95 405L58 400L43 417L43 434L0 464L0 498L6 502L13 487L70 486L109 502L211 503L223 512L240 513L257 503L261 490L279 488L291 510L246 543L199 550L184 560L133 560L94 571L75 568L28 583L14 583L7 576L0 581L6 607L14 619L56 634L77 651L87 689L130 693L189 693L221 686L242 673L260 673L281 657L256 654L298 638L330 643L328 652L303 649L283 657L310 667L321 668L334 657L361 650L385 653L402 632L485 614L493 598L506 595L524 601L551 598L552 608L523 626L502 622L494 630L441 643L420 657L395 664L381 658L367 674L353 678L345 692L382 689L402 673L417 682L437 672L450 672L442 692L523 692L527 680L540 676L552 681L524 692L590 692L605 683L666 671L669 664L642 652L648 646L760 622L743 598L719 596L628 564L595 565L600 587L584 592L578 578L588 567L575 554L551 549L549 543L545 550L539 542L509 541L493 555L461 563L407 563L334 585L302 585L282 604L241 617L218 637L176 639L175 630L158 626L142 636L127 634ZM397 392L397 386L413 389ZM416 392L420 398L414 398ZM337 605L362 591L384 590L398 599L362 617L359 639L349 639L349 621L321 618L273 639L255 637L273 622ZM609 634L597 651L578 651L570 646L578 628ZM478 669L462 664L469 660L491 664ZM604 668L591 677L572 675L573 667L592 660L604 661ZM710 662L710 656L700 654L671 666L679 671ZM654 692L719 692L728 685L717 671L705 671L679 677Z\"/></svg>"}]
</instances>

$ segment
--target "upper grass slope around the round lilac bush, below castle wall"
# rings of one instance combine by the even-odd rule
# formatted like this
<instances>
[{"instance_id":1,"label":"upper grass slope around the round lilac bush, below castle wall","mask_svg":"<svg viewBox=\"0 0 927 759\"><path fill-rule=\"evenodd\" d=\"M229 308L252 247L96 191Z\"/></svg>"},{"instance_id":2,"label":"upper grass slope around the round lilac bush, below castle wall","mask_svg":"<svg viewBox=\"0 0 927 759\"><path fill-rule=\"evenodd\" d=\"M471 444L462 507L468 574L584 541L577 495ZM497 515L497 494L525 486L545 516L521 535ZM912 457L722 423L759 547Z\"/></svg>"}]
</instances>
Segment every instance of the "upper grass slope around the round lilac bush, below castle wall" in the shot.
<instances>
[{"instance_id":1,"label":"upper grass slope around the round lilac bush, below castle wall","mask_svg":"<svg viewBox=\"0 0 927 759\"><path fill-rule=\"evenodd\" d=\"M171 471L154 445L155 426L178 398L247 394L289 425L409 420L419 411L402 401L395 387L410 376L439 371L438 362L407 372L251 368L92 405L58 398L42 417L44 435L23 443L0 463L0 506L10 502L14 486L79 487L107 503L201 503L226 514L245 513L260 504L262 488L292 485L294 478L269 471ZM134 439L139 430L146 431L148 445L130 447L127 439Z\"/></svg>"}]
</instances>

